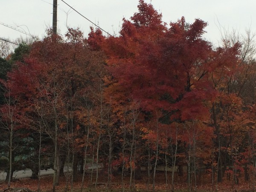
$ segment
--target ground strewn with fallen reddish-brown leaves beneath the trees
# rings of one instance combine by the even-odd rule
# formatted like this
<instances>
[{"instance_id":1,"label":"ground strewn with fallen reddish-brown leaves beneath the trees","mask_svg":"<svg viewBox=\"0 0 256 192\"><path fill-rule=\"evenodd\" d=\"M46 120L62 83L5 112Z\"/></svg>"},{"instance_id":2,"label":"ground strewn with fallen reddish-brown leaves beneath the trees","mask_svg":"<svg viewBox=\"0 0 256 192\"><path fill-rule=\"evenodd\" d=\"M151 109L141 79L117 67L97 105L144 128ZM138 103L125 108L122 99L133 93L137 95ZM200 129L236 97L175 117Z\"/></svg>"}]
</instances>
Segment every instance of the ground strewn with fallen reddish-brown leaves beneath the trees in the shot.
<instances>
[{"instance_id":1,"label":"ground strewn with fallen reddish-brown leaves beneath the trees","mask_svg":"<svg viewBox=\"0 0 256 192\"><path fill-rule=\"evenodd\" d=\"M146 173L145 173L146 174ZM73 183L73 191L74 192L80 192L81 189L81 180L82 175L79 175L79 180ZM125 191L129 190L129 180L130 177L126 176L124 180L124 189ZM169 175L168 182L171 183L171 175ZM84 183L84 189L83 192L119 192L122 191L122 184L121 184L121 175L116 175L112 179L112 185L108 186L107 182L108 177L105 174L99 174L99 180L95 187L95 182L90 182L90 175L86 175L86 180ZM210 192L210 191L218 191L218 192L254 192L256 191L256 179L253 181L244 182L244 178L240 176L239 184L235 185L232 180L227 180L224 177L223 182L218 183L217 190L216 185L212 187L211 184L211 177L210 175L204 175L200 181L198 181L198 185L195 190L195 185L192 183L192 191L198 191L198 192ZM141 180L135 181L135 188L133 191L136 192L146 192L146 191L152 191L152 181L151 184L147 184L147 176L143 177ZM253 184L254 183L254 184ZM56 186L57 192L64 192L67 184L67 178L61 177L60 178L60 185ZM68 181L68 191L71 190L71 183L70 180ZM254 189L253 189L254 186ZM12 188L28 188L32 191L38 190L38 180L35 179L17 179L13 180L11 183ZM4 189L8 188L7 183L1 182L0 183L0 191L2 192ZM172 186L169 184L166 186L166 179L164 172L157 172L156 175L156 185L155 185L155 191L163 192L171 191L170 189ZM52 191L52 176L44 176L41 177L41 187L42 192L51 192ZM186 182L186 176L183 177L175 177L175 191L176 192L186 192L189 191L188 183Z\"/></svg>"}]
</instances>

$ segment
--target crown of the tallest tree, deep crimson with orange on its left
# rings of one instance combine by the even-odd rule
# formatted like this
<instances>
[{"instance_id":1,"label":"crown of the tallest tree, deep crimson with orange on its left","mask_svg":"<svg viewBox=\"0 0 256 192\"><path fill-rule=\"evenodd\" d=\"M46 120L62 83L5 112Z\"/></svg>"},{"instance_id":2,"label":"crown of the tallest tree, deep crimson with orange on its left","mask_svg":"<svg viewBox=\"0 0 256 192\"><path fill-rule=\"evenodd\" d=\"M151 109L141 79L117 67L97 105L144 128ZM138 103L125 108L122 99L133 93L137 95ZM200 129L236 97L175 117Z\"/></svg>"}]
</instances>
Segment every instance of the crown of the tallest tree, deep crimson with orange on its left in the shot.
<instances>
[{"instance_id":1,"label":"crown of the tallest tree, deep crimson with orange on its left","mask_svg":"<svg viewBox=\"0 0 256 192\"><path fill-rule=\"evenodd\" d=\"M204 78L212 52L202 38L207 23L196 19L189 24L182 17L168 28L151 4L140 0L138 9L131 21L123 20L119 37L102 40L96 30L88 40L108 55L115 92L132 96L143 110L164 111L162 115L171 119L209 118L203 103L213 95Z\"/></svg>"}]
</instances>

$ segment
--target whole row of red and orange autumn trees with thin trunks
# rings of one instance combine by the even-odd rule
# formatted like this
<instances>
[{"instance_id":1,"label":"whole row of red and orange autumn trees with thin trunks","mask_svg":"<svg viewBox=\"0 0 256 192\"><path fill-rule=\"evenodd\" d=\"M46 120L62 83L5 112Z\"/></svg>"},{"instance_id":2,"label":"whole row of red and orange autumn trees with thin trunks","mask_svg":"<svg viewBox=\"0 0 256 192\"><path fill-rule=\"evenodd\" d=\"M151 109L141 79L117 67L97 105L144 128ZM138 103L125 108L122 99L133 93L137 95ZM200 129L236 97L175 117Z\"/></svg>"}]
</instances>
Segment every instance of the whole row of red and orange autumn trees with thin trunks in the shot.
<instances>
[{"instance_id":1,"label":"whole row of red and orange autumn trees with thin trunks","mask_svg":"<svg viewBox=\"0 0 256 192\"><path fill-rule=\"evenodd\" d=\"M140 0L138 9L119 36L49 30L0 59L0 164L9 186L15 170L38 178L53 168L55 191L66 163L73 187L78 167L88 179L88 162L95 186L99 165L109 186L119 171L130 189L142 166L151 190L157 166L166 167L172 190L175 172L190 191L202 175L216 189L224 174L234 184L240 175L255 181L254 35L226 34L213 47L202 37L206 22L181 17L167 25L151 4Z\"/></svg>"}]
</instances>

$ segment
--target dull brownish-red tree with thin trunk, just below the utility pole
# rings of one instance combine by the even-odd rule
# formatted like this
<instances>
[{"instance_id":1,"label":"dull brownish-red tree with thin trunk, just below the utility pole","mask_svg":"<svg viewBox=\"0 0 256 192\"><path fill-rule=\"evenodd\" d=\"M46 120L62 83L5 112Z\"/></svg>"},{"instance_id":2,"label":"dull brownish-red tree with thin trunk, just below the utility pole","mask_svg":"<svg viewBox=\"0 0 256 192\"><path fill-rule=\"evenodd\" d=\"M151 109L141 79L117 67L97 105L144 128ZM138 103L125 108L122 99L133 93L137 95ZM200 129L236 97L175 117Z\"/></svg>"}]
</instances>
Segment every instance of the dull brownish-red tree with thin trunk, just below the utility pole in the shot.
<instances>
[{"instance_id":1,"label":"dull brownish-red tree with thin trunk, just below the utility pole","mask_svg":"<svg viewBox=\"0 0 256 192\"><path fill-rule=\"evenodd\" d=\"M100 79L99 74L103 74L100 53L90 51L83 34L69 29L66 37L66 40L58 35L53 37L49 32L44 41L32 45L24 64L17 64L17 69L9 75L15 82L16 93L23 95L26 117L43 119L44 130L52 140L53 190L58 185L60 155L65 150L67 134L74 133L72 148L76 148L75 131L79 125L76 111L81 103L80 93L93 88L93 84L98 82L96 79ZM43 111L40 116L38 109ZM65 131L67 126L68 132ZM76 155L74 150L73 155ZM73 169L73 173L77 173L77 168Z\"/></svg>"}]
</instances>

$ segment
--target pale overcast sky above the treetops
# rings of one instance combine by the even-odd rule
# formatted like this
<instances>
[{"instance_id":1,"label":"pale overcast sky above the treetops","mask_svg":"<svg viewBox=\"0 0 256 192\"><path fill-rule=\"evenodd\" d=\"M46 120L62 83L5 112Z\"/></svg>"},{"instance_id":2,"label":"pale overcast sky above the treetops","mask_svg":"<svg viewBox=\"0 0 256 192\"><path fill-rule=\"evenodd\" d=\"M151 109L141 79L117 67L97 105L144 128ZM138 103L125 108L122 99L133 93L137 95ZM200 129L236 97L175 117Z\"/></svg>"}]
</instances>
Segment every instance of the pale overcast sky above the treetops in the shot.
<instances>
[{"instance_id":1,"label":"pale overcast sky above the treetops","mask_svg":"<svg viewBox=\"0 0 256 192\"><path fill-rule=\"evenodd\" d=\"M64 0L82 15L98 24L110 34L118 33L122 18L129 19L137 12L138 0ZM220 26L244 33L250 28L256 32L256 0L145 0L161 12L163 21L175 22L184 16L189 23L200 18L208 23L204 37L217 45L221 38ZM45 35L52 26L53 0L0 0L0 22L37 35ZM92 23L58 0L58 30L67 31L66 26L80 27L85 35ZM223 29L222 29L223 30ZM0 24L0 38L26 36Z\"/></svg>"}]
</instances>

